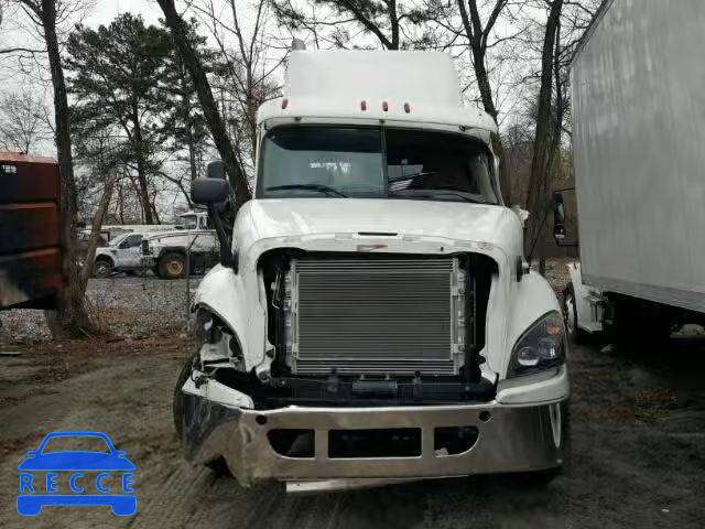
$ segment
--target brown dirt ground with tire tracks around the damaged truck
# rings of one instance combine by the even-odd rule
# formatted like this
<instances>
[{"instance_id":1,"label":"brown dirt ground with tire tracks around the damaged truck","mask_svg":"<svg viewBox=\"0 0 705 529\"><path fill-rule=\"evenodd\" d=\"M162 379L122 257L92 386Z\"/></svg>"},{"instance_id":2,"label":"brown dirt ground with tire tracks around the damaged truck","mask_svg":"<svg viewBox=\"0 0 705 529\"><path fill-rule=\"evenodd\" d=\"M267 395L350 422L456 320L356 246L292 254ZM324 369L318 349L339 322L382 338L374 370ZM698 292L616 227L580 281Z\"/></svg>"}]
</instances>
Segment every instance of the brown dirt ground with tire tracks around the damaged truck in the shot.
<instances>
[{"instance_id":1,"label":"brown dirt ground with tire tracks around the damaged truck","mask_svg":"<svg viewBox=\"0 0 705 529\"><path fill-rule=\"evenodd\" d=\"M171 398L192 345L144 339L0 347L0 527L699 528L705 520L705 343L639 357L573 347L573 464L547 487L468 477L318 496L241 488L182 458ZM20 355L7 355L20 353ZM134 463L138 510L15 511L18 464L57 430L109 435Z\"/></svg>"}]
</instances>

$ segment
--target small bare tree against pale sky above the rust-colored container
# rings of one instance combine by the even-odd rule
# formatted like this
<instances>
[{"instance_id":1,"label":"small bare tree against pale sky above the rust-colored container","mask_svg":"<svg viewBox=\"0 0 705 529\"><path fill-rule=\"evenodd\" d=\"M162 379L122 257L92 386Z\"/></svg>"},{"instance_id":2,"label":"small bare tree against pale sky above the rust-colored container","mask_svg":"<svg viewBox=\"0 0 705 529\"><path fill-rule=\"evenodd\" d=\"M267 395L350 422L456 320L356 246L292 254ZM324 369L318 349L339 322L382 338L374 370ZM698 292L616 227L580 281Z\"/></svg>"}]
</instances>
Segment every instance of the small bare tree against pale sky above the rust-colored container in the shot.
<instances>
[{"instance_id":1,"label":"small bare tree against pale sky above the rust-colored container","mask_svg":"<svg viewBox=\"0 0 705 529\"><path fill-rule=\"evenodd\" d=\"M0 98L0 145L3 149L33 152L51 137L44 120L44 100L29 90L13 91Z\"/></svg>"}]
</instances>

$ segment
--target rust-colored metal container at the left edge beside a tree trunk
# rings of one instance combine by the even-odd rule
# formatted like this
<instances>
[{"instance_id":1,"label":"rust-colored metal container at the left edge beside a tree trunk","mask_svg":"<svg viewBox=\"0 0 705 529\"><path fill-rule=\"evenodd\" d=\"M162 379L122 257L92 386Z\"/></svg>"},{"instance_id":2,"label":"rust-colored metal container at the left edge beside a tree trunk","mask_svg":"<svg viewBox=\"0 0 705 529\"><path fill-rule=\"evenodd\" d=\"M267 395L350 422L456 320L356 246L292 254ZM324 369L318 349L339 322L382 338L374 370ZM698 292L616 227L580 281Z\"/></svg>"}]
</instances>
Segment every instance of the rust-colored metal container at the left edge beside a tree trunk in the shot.
<instances>
[{"instance_id":1,"label":"rust-colored metal container at the left edge beside a tree trunk","mask_svg":"<svg viewBox=\"0 0 705 529\"><path fill-rule=\"evenodd\" d=\"M0 151L0 310L63 299L59 195L55 160Z\"/></svg>"}]
</instances>

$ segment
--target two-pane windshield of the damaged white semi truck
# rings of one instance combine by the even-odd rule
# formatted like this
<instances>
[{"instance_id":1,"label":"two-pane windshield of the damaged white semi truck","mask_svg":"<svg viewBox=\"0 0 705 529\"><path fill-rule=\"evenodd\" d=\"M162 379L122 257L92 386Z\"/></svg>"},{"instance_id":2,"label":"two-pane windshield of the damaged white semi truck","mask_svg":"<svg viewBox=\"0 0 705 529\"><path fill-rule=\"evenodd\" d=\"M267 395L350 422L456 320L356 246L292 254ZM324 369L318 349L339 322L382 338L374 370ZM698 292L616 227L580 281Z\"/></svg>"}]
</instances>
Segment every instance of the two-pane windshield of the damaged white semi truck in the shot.
<instances>
[{"instance_id":1,"label":"two-pane windshield of the damaged white semi truck","mask_svg":"<svg viewBox=\"0 0 705 529\"><path fill-rule=\"evenodd\" d=\"M370 197L497 204L490 156L460 134L280 127L264 138L257 197Z\"/></svg>"}]
</instances>

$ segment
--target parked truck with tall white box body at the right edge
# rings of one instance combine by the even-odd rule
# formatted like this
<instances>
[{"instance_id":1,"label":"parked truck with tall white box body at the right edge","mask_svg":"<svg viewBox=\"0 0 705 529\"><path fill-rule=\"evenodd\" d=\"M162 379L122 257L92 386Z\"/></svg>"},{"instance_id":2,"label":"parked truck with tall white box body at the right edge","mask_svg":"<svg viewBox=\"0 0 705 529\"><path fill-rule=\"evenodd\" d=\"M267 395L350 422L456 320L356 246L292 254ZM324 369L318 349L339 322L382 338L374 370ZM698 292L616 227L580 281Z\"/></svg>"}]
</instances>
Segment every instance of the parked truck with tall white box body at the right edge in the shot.
<instances>
[{"instance_id":1,"label":"parked truck with tall white box body at the right edge","mask_svg":"<svg viewBox=\"0 0 705 529\"><path fill-rule=\"evenodd\" d=\"M573 62L575 338L610 331L659 348L675 326L705 322L703 28L701 0L614 0ZM556 206L565 241L562 194Z\"/></svg>"}]
</instances>

